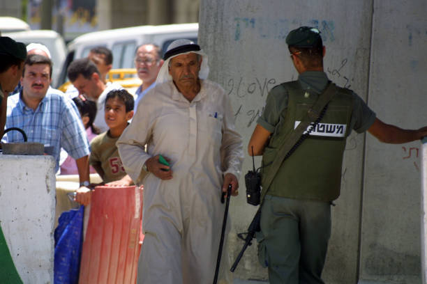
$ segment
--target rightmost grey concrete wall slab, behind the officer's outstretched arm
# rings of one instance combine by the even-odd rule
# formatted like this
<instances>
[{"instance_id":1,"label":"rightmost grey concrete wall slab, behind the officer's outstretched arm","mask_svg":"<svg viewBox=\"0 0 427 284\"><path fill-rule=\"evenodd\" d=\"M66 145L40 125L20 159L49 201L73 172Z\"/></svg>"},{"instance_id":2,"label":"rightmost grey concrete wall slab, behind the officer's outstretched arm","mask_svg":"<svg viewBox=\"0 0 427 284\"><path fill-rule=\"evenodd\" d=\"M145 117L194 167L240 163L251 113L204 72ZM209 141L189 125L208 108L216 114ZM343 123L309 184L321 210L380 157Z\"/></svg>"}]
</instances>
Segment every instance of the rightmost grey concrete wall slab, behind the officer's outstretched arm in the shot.
<instances>
[{"instance_id":1,"label":"rightmost grey concrete wall slab, behind the officer's outstretched arm","mask_svg":"<svg viewBox=\"0 0 427 284\"><path fill-rule=\"evenodd\" d=\"M369 104L384 122L426 125L427 3L374 1ZM419 141L367 136L360 278L421 283Z\"/></svg>"}]
</instances>

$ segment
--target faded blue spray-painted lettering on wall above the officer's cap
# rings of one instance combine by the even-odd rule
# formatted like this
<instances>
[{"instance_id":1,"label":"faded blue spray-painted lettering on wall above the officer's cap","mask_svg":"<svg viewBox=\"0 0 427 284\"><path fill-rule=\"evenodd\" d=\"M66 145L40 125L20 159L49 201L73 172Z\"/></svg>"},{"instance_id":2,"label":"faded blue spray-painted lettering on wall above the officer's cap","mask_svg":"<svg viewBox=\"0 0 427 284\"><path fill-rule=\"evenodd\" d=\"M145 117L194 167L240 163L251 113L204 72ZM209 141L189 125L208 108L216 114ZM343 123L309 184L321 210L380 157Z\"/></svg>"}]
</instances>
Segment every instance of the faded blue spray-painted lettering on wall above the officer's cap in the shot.
<instances>
[{"instance_id":1,"label":"faded blue spray-painted lettering on wall above the officer's cap","mask_svg":"<svg viewBox=\"0 0 427 284\"><path fill-rule=\"evenodd\" d=\"M245 36L257 36L261 39L285 40L287 33L301 24L297 19L266 19L263 17L235 17L234 40L238 41ZM335 40L335 23L331 20L312 19L306 22L308 26L314 26L322 33L324 42Z\"/></svg>"}]
</instances>

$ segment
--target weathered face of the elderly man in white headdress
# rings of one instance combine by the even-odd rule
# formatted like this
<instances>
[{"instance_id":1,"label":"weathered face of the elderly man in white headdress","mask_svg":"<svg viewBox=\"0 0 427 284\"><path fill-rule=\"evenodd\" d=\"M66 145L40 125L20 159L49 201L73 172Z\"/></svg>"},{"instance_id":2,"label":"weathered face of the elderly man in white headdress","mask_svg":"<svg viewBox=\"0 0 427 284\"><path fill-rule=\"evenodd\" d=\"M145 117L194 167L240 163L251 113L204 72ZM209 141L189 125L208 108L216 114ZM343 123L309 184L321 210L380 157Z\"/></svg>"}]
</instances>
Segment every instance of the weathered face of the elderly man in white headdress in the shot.
<instances>
[{"instance_id":1,"label":"weathered face of the elderly man in white headdress","mask_svg":"<svg viewBox=\"0 0 427 284\"><path fill-rule=\"evenodd\" d=\"M202 58L199 61L197 54L193 52L175 56L170 60L169 74L179 90L196 86L201 64Z\"/></svg>"}]
</instances>

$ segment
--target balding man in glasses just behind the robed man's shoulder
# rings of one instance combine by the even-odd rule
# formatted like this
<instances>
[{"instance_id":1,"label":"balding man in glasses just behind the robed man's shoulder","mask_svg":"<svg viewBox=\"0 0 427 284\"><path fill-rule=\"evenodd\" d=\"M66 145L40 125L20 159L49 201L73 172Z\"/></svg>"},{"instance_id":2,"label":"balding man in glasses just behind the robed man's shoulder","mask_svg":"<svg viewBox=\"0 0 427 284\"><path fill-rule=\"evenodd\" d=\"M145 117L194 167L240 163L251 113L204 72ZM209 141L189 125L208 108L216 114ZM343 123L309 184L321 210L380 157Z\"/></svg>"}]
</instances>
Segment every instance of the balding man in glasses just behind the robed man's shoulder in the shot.
<instances>
[{"instance_id":1,"label":"balding man in glasses just behind the robed man's shoulder","mask_svg":"<svg viewBox=\"0 0 427 284\"><path fill-rule=\"evenodd\" d=\"M135 92L137 96L135 99L134 113L137 111L138 103L141 98L156 86L156 78L160 67L163 65L163 59L160 54L160 47L158 45L147 44L140 45L135 53L135 68L138 77L142 80Z\"/></svg>"}]
</instances>

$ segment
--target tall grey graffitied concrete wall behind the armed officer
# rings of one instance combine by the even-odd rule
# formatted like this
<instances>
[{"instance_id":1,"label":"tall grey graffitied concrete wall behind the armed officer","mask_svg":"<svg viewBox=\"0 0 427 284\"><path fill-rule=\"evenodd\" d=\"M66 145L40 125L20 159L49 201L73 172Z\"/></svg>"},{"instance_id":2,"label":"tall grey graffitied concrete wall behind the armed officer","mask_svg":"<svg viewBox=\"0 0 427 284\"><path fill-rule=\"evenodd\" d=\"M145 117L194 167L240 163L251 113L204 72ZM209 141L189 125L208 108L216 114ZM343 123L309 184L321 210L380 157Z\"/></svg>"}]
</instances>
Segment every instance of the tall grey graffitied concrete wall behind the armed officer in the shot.
<instances>
[{"instance_id":1,"label":"tall grey graffitied concrete wall behind the armed officer","mask_svg":"<svg viewBox=\"0 0 427 284\"><path fill-rule=\"evenodd\" d=\"M210 79L231 97L245 145L268 91L297 78L285 37L301 25L322 32L329 79L352 88L385 122L418 128L426 124L420 115L427 89L425 15L424 0L201 1L199 40L210 56ZM324 279L419 283L419 143L385 145L366 137L347 140ZM244 173L250 167L246 156ZM235 234L246 230L255 210L244 194L232 201L232 260L242 245ZM235 276L267 278L254 246Z\"/></svg>"}]
</instances>

